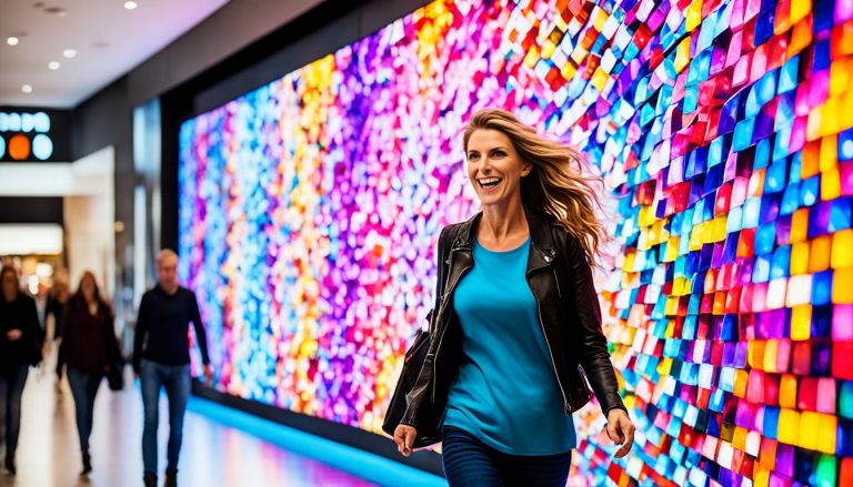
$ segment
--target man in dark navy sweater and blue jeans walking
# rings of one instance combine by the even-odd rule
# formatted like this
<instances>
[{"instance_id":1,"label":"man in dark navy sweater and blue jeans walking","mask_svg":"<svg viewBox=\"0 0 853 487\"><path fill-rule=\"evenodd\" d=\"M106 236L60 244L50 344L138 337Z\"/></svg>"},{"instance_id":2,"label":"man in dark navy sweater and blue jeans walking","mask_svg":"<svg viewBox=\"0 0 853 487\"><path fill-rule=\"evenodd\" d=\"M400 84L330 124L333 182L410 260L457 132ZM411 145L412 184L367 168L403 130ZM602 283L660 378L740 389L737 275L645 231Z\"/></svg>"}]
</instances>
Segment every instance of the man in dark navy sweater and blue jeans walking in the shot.
<instances>
[{"instance_id":1,"label":"man in dark navy sweater and blue jeans walking","mask_svg":"<svg viewBox=\"0 0 853 487\"><path fill-rule=\"evenodd\" d=\"M178 254L170 250L157 258L159 284L142 296L133 341L133 371L142 381L145 422L142 433L142 460L145 486L157 485L157 427L160 388L169 397L169 446L165 485L178 484L178 456L183 437L183 414L190 396L189 323L195 328L204 377L213 371L208 342L201 324L199 304L192 291L178 285Z\"/></svg>"}]
</instances>

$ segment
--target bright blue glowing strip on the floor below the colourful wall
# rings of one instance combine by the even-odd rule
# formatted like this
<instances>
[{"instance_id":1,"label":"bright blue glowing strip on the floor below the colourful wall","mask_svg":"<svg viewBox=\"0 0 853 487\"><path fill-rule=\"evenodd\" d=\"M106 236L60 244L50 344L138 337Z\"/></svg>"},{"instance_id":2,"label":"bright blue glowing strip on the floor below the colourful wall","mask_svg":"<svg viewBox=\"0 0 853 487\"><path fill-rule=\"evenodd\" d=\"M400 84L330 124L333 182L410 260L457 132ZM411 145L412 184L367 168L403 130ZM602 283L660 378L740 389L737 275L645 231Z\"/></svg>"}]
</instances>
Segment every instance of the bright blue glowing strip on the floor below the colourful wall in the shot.
<instances>
[{"instance_id":1,"label":"bright blue glowing strip on the floor below the colourful wall","mask_svg":"<svg viewBox=\"0 0 853 487\"><path fill-rule=\"evenodd\" d=\"M448 485L439 476L210 400L190 397L189 409L278 445L288 452L322 461L377 484L424 487Z\"/></svg>"}]
</instances>

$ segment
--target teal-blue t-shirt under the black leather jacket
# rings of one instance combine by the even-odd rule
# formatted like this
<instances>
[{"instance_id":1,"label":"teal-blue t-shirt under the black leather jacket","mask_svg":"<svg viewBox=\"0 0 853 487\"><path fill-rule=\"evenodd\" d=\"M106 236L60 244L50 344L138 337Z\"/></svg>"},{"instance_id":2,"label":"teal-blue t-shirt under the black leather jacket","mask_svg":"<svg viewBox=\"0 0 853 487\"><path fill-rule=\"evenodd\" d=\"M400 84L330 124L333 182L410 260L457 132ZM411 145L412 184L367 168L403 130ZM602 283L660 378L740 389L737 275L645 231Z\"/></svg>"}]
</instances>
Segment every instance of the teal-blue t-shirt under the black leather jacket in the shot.
<instances>
[{"instance_id":1,"label":"teal-blue t-shirt under the black leather jacket","mask_svg":"<svg viewBox=\"0 0 853 487\"><path fill-rule=\"evenodd\" d=\"M529 254L530 239L509 252L474 242L474 266L453 294L463 358L444 425L510 455L555 455L576 436L526 281Z\"/></svg>"}]
</instances>

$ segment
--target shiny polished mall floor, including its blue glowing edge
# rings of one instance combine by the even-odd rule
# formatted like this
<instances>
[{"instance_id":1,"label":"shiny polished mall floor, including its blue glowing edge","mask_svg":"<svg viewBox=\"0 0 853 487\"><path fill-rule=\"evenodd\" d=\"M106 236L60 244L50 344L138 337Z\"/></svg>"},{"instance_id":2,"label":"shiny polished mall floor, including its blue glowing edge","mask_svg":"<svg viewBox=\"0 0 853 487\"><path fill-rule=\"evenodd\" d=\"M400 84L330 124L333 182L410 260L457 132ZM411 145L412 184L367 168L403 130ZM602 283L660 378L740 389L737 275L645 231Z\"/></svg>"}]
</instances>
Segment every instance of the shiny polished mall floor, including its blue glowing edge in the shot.
<instances>
[{"instance_id":1,"label":"shiny polished mall floor, including its blue glowing edge","mask_svg":"<svg viewBox=\"0 0 853 487\"><path fill-rule=\"evenodd\" d=\"M52 374L31 369L22 409L18 475L10 476L0 470L0 486L142 485L142 402L136 384L120 393L110 392L106 382L101 385L91 438L94 470L86 477L79 475L81 466L74 405L68 385L63 383L58 392ZM160 422L162 469L169 430L164 398ZM405 485L443 484L439 477L394 461L301 432L274 433L280 432L275 428L283 427L264 425L263 420L249 415L191 399L185 418L179 485L374 486L394 485L397 480ZM278 439L283 437L289 439ZM288 445L293 448L288 448ZM322 454L313 455L312 452ZM320 461L312 459L312 456L334 458ZM162 485L162 479L160 481Z\"/></svg>"}]
</instances>

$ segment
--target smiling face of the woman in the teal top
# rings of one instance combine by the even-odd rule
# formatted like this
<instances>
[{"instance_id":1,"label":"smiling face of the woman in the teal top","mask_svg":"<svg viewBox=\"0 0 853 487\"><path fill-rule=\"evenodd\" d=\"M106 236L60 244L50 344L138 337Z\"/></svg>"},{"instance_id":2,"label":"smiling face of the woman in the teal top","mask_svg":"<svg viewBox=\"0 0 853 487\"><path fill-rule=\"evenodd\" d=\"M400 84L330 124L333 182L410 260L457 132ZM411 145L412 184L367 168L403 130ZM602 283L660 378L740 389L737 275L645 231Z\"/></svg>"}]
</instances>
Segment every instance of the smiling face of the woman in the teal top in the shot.
<instances>
[{"instance_id":1,"label":"smiling face of the woman in the teal top","mask_svg":"<svg viewBox=\"0 0 853 487\"><path fill-rule=\"evenodd\" d=\"M468 140L468 179L483 206L521 197L521 176L532 165L519 159L512 141L503 132L479 129Z\"/></svg>"}]
</instances>

